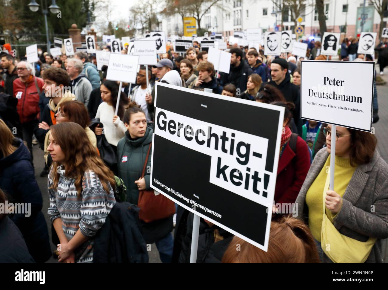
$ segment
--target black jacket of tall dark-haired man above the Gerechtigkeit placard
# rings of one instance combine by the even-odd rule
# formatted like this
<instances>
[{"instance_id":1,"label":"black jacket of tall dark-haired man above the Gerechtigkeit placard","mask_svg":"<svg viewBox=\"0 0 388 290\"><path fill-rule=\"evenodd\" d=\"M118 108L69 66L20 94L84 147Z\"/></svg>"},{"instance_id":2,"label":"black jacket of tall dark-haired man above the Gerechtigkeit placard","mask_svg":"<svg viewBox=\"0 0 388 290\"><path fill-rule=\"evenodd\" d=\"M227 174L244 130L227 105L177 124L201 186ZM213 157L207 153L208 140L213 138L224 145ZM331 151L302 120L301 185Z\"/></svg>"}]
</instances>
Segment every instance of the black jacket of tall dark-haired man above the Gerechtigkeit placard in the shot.
<instances>
[{"instance_id":1,"label":"black jacket of tall dark-haired man above the Gerechtigkeit placard","mask_svg":"<svg viewBox=\"0 0 388 290\"><path fill-rule=\"evenodd\" d=\"M245 61L241 61L240 65L234 67L230 65L229 73L221 73L220 84L225 86L226 84L234 84L240 92L246 91L246 83L248 77L252 74L252 69Z\"/></svg>"}]
</instances>

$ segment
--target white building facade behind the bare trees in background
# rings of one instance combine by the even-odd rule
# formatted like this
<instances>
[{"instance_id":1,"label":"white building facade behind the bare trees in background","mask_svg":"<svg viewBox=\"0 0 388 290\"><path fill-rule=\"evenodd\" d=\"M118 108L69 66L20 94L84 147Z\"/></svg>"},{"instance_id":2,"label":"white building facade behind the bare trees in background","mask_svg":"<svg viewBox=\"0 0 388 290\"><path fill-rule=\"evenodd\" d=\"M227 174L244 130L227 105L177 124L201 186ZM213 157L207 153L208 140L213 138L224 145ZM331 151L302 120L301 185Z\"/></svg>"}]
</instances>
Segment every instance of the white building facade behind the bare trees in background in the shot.
<instances>
[{"instance_id":1,"label":"white building facade behind the bare trees in background","mask_svg":"<svg viewBox=\"0 0 388 290\"><path fill-rule=\"evenodd\" d=\"M381 0L387 9L387 0ZM277 3L277 5L274 4ZM320 36L318 12L315 0L303 1L301 10L304 35ZM361 32L363 0L326 0L324 9L327 31L343 32L346 36L357 36ZM204 6L205 8L206 6ZM205 8L206 9L206 8ZM380 16L369 1L365 4L366 19L364 31L379 32ZM388 20L385 11L384 21ZM162 27L168 35L182 35L182 17L175 15L163 19ZM201 27L211 32L222 32L225 37L234 30L260 27L267 30L294 30L295 22L287 7L282 7L282 0L222 0L217 6L210 7L201 19ZM386 22L384 23L386 27Z\"/></svg>"}]
</instances>

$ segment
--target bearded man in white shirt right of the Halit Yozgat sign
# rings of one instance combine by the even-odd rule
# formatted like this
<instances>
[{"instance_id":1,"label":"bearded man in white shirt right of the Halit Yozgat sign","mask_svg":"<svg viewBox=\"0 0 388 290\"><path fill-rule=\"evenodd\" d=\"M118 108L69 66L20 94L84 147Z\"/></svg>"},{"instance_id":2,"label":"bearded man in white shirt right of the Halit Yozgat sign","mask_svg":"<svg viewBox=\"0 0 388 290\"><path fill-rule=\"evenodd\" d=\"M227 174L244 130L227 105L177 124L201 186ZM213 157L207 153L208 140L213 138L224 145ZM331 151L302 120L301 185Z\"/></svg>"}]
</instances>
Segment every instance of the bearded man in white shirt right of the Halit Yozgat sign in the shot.
<instances>
[{"instance_id":1,"label":"bearded man in white shirt right of the Halit Yozgat sign","mask_svg":"<svg viewBox=\"0 0 388 290\"><path fill-rule=\"evenodd\" d=\"M147 76L145 70L148 69L148 87L147 87ZM140 70L137 73L136 77L136 83L137 86L133 88L132 94L131 94L131 101L135 101L140 105L140 107L144 110L145 112L145 117L147 118L147 122L152 121L152 117L149 114L148 110L148 104L147 101L145 100L145 95L147 93L152 92L152 85L151 85L151 69L146 68L144 65L140 66Z\"/></svg>"}]
</instances>

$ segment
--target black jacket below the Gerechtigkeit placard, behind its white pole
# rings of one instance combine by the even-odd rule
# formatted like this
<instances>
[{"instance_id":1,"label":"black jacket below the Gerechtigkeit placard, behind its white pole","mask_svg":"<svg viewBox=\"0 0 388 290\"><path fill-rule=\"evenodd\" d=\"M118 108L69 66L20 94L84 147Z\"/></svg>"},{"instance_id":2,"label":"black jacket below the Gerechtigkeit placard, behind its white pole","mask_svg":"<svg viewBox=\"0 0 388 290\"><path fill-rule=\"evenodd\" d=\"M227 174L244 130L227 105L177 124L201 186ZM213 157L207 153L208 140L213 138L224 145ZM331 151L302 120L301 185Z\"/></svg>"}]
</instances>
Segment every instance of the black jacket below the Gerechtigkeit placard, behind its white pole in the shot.
<instances>
[{"instance_id":1,"label":"black jacket below the Gerechtigkeit placard, behind its white pole","mask_svg":"<svg viewBox=\"0 0 388 290\"><path fill-rule=\"evenodd\" d=\"M193 220L194 214L184 210L184 213L180 217L179 225L175 229L177 234L174 241L173 263L190 262ZM218 235L223 237L217 243L214 243L215 230L218 230ZM197 263L220 263L232 238L233 234L230 232L221 229L217 225L209 227L204 219L201 218L199 224Z\"/></svg>"}]
</instances>

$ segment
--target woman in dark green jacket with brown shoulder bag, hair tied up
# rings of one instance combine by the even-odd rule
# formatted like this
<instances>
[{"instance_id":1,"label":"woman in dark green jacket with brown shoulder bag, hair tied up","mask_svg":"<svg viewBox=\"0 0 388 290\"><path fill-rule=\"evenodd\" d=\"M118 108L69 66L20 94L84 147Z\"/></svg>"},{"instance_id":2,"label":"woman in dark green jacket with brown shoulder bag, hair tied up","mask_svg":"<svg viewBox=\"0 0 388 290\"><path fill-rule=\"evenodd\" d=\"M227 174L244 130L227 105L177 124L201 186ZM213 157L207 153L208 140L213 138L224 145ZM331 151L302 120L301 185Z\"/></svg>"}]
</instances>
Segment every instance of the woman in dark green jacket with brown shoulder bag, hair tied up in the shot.
<instances>
[{"instance_id":1,"label":"woman in dark green jacket with brown shoulder bag, hair tied up","mask_svg":"<svg viewBox=\"0 0 388 290\"><path fill-rule=\"evenodd\" d=\"M148 148L152 142L152 126L147 126L144 111L136 102L131 102L124 113L123 122L127 131L117 144L118 173L127 188L127 201L137 205L139 190L151 190L150 151L144 177L143 171ZM163 263L171 262L173 250L173 216L146 223L140 220L142 234L147 244L156 243Z\"/></svg>"}]
</instances>

